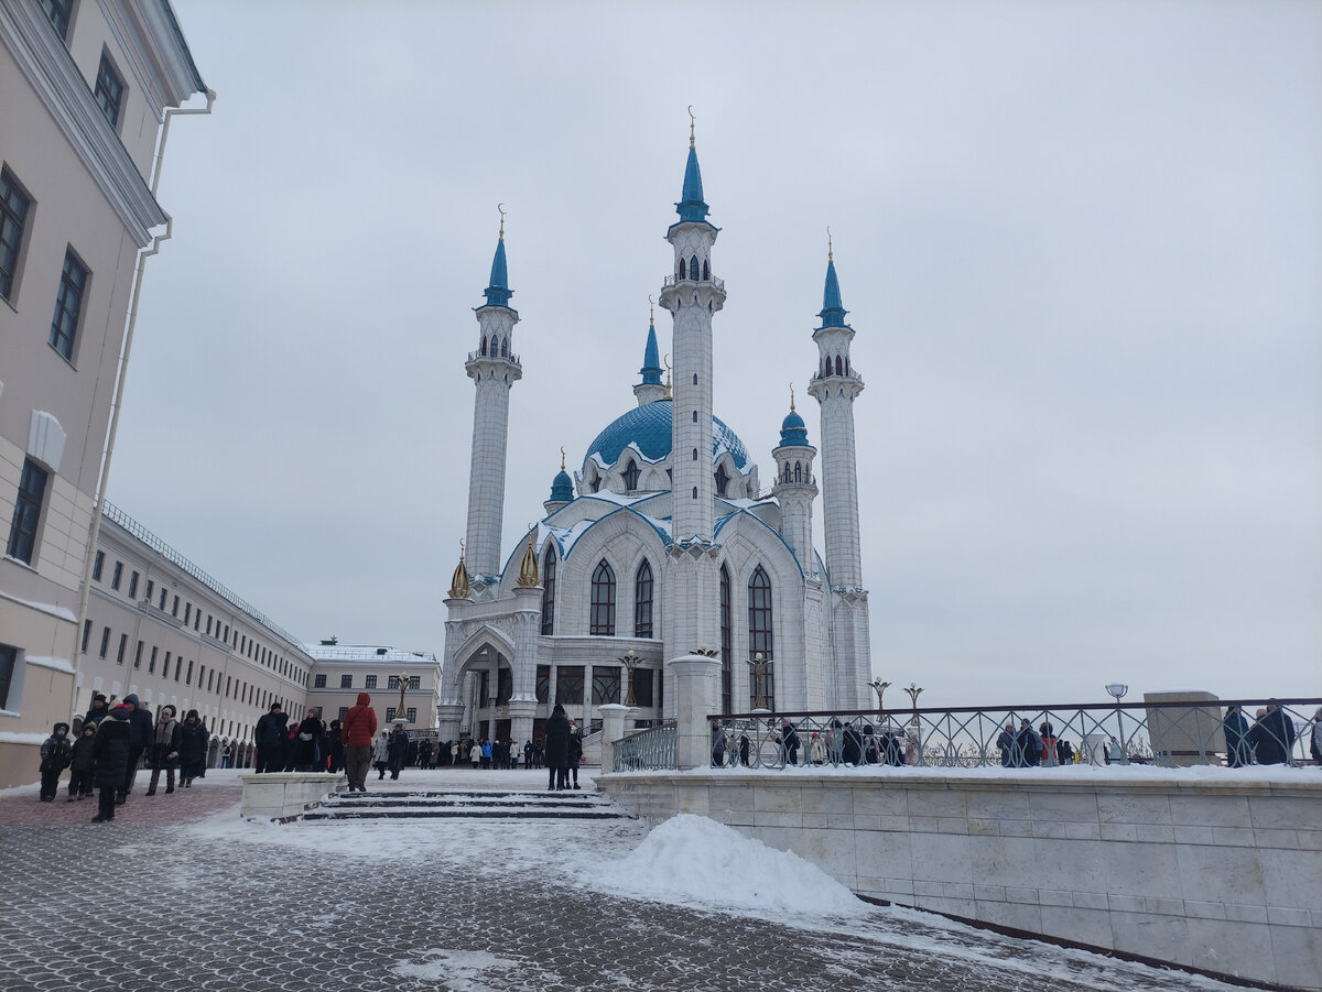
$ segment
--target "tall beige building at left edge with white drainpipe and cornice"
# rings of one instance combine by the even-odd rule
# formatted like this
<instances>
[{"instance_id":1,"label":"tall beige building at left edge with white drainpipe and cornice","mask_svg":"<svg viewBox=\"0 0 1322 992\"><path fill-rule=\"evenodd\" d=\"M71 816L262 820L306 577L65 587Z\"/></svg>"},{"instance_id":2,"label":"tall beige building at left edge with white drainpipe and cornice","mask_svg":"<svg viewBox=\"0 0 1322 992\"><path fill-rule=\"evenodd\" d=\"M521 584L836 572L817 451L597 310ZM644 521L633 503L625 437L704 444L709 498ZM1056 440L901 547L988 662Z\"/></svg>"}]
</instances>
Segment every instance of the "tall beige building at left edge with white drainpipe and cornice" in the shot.
<instances>
[{"instance_id":1,"label":"tall beige building at left edge with white drainpipe and cornice","mask_svg":"<svg viewBox=\"0 0 1322 992\"><path fill-rule=\"evenodd\" d=\"M168 0L0 3L0 785L69 717L153 157L205 90Z\"/></svg>"}]
</instances>

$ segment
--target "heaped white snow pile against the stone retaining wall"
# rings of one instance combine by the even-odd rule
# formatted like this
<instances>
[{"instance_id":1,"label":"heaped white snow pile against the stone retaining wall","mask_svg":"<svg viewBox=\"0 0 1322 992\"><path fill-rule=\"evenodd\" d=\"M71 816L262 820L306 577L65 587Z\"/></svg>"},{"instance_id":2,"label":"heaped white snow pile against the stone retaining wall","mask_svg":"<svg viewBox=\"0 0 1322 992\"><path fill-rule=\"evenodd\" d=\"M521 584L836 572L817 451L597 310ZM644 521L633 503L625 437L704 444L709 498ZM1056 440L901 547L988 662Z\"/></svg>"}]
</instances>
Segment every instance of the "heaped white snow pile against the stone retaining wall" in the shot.
<instances>
[{"instance_id":1,"label":"heaped white snow pile against the stone retaining wall","mask_svg":"<svg viewBox=\"0 0 1322 992\"><path fill-rule=\"evenodd\" d=\"M854 894L798 855L691 814L653 830L636 851L607 863L592 886L635 898L785 914L858 913Z\"/></svg>"}]
</instances>

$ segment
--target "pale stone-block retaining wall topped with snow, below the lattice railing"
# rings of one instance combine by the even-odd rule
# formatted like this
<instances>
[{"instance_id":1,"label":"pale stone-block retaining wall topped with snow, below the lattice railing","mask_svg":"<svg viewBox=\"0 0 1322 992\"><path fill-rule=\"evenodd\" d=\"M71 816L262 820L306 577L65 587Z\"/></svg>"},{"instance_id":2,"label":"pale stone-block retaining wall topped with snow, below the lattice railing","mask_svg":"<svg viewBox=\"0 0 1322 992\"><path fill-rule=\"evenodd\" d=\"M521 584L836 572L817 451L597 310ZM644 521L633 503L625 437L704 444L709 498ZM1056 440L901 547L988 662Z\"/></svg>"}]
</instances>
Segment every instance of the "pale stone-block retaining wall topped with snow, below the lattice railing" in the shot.
<instances>
[{"instance_id":1,"label":"pale stone-block retaining wall topped with snow, below the lattice railing","mask_svg":"<svg viewBox=\"0 0 1322 992\"><path fill-rule=\"evenodd\" d=\"M1322 989L1322 775L1165 774L718 770L596 782L639 816L710 816L862 896Z\"/></svg>"}]
</instances>

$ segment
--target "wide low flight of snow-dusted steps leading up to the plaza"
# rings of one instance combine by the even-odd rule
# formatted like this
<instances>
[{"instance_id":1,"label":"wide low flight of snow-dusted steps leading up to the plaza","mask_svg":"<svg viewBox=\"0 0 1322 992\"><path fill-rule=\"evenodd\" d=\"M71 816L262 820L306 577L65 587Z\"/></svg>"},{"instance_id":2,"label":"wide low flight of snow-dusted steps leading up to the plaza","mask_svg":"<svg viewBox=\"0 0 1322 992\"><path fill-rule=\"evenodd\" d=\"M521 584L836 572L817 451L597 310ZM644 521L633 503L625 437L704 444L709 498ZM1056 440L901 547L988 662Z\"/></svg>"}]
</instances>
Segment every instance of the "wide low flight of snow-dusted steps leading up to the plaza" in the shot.
<instances>
[{"instance_id":1,"label":"wide low flight of snow-dusted steps leading up to the plaza","mask_svg":"<svg viewBox=\"0 0 1322 992\"><path fill-rule=\"evenodd\" d=\"M398 790L337 793L303 814L305 823L403 819L617 820L609 799L595 793L446 793Z\"/></svg>"}]
</instances>

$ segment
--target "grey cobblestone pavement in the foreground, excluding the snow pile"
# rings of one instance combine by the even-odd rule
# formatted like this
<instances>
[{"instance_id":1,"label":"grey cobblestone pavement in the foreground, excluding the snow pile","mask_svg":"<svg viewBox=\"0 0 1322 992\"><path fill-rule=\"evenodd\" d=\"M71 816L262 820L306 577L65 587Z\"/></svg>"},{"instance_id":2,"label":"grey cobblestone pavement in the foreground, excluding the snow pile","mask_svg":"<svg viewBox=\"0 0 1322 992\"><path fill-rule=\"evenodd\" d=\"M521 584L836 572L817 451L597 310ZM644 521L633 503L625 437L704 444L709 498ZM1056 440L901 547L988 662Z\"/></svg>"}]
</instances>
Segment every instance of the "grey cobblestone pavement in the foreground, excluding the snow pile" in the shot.
<instances>
[{"instance_id":1,"label":"grey cobblestone pavement in the foreground, excluding the snow pile","mask_svg":"<svg viewBox=\"0 0 1322 992\"><path fill-rule=\"evenodd\" d=\"M382 857L345 853L357 835L328 833L353 830L342 826L254 828L245 839L182 822L204 815L204 804L231 806L233 778L189 790L188 804L175 807L160 794L135 795L103 826L85 822L90 808L87 818L59 816L62 797L40 804L20 791L0 797L7 992L1231 988L866 903L854 921L780 923L602 896L485 855L465 863L456 849L472 824L438 826L436 857ZM16 823L20 804L41 822ZM152 819L160 816L178 822ZM231 807L209 822L237 820ZM623 855L645 831L616 823L625 824ZM274 830L303 833L282 835L299 837L290 845L272 843ZM554 857L583 827L538 830L541 851Z\"/></svg>"}]
</instances>

